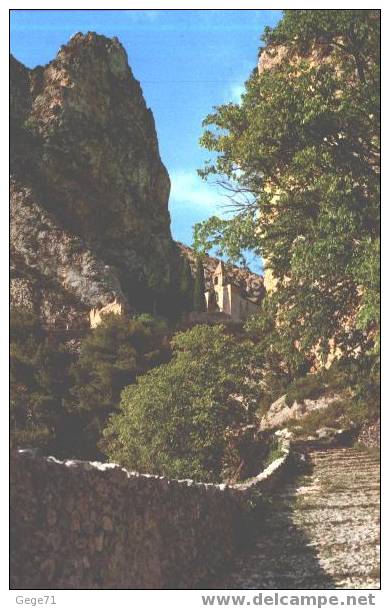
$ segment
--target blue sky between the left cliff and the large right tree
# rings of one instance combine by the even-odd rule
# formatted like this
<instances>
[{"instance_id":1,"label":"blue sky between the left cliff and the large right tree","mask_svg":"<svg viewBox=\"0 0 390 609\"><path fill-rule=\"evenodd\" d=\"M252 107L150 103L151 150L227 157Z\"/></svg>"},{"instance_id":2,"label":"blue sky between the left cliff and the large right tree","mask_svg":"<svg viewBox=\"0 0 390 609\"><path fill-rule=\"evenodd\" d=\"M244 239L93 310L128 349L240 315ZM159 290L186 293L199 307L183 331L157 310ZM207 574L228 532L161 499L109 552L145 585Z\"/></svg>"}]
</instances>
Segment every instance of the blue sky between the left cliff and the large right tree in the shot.
<instances>
[{"instance_id":1,"label":"blue sky between the left cliff and the large right tree","mask_svg":"<svg viewBox=\"0 0 390 609\"><path fill-rule=\"evenodd\" d=\"M11 51L35 67L78 31L119 38L154 114L172 182L173 237L190 245L195 222L222 214L226 201L196 173L210 157L199 146L202 120L213 106L239 101L263 29L280 17L273 10L12 10ZM251 267L259 270L259 261Z\"/></svg>"}]
</instances>

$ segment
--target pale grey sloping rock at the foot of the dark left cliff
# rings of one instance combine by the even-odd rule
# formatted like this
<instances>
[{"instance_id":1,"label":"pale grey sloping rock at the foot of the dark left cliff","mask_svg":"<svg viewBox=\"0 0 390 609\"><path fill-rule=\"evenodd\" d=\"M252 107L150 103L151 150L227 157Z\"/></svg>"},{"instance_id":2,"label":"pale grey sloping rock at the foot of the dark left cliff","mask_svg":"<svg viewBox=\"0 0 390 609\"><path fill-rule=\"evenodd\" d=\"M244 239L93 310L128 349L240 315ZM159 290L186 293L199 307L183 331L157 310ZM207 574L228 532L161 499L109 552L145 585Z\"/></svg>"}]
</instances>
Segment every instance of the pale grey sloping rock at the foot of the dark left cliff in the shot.
<instances>
[{"instance_id":1,"label":"pale grey sloping rock at the foot of the dark left cliff","mask_svg":"<svg viewBox=\"0 0 390 609\"><path fill-rule=\"evenodd\" d=\"M35 202L33 191L11 182L11 243L15 306L36 311L56 326L81 323L91 305L124 298L115 268L80 237L61 229Z\"/></svg>"}]
</instances>

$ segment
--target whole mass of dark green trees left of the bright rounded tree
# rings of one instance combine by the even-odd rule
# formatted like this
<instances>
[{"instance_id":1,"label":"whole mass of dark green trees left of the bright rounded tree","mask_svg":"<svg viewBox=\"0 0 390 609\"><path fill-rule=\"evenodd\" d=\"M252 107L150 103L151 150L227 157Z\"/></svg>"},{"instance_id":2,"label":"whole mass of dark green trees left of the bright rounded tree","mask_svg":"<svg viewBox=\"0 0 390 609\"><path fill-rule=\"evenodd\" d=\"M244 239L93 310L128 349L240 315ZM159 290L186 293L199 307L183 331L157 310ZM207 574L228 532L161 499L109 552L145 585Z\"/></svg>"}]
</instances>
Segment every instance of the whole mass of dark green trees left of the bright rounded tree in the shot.
<instances>
[{"instance_id":1,"label":"whole mass of dark green trees left of the bright rounded tree","mask_svg":"<svg viewBox=\"0 0 390 609\"><path fill-rule=\"evenodd\" d=\"M151 315L106 316L80 354L50 340L31 312L11 311L11 442L62 457L98 458L97 442L125 385L170 357L167 326Z\"/></svg>"}]
</instances>

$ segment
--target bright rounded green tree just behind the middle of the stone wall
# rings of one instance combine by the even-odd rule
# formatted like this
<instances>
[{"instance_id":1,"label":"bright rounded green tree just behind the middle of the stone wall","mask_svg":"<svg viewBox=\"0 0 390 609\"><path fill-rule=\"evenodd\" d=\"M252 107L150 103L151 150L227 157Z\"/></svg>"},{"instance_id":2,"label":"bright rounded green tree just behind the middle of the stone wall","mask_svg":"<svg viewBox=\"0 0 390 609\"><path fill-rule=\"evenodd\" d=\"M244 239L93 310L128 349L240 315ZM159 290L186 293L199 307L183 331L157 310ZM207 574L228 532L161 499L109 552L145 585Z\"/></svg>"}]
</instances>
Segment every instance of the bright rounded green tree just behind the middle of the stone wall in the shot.
<instances>
[{"instance_id":1,"label":"bright rounded green tree just behind the middle of the stone wall","mask_svg":"<svg viewBox=\"0 0 390 609\"><path fill-rule=\"evenodd\" d=\"M122 392L120 410L101 448L129 469L221 480L235 431L256 421L260 372L253 344L223 326L198 325L177 334L172 360Z\"/></svg>"}]
</instances>

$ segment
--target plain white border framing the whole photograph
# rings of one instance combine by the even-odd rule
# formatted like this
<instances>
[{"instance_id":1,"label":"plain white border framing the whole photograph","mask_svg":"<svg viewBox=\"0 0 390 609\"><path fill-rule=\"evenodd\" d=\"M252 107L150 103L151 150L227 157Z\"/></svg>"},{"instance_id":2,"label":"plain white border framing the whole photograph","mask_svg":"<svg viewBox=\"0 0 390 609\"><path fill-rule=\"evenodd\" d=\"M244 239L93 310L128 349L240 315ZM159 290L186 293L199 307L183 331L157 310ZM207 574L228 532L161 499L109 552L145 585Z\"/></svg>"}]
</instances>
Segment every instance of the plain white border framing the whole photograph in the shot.
<instances>
[{"instance_id":1,"label":"plain white border framing the whole photograph","mask_svg":"<svg viewBox=\"0 0 390 609\"><path fill-rule=\"evenodd\" d=\"M41 0L35 6L31 2L20 1L20 2L7 2L5 5L2 4L0 7L0 24L1 24L1 35L0 35L0 57L1 57L1 79L2 91L0 95L0 121L1 121L1 134L2 134L2 147L1 147L1 159L0 159L0 171L1 171L1 205L0 205L0 247L1 247L1 265L0 265L0 285L4 288L2 291L2 297L0 298L0 336L1 336L1 383L2 397L1 400L1 416L2 416L2 458L0 460L0 475L1 475L1 488L6 490L3 492L2 501L0 502L0 516L2 523L2 544L0 554L0 601L2 601L3 607L17 607L16 596L43 596L44 591L32 591L31 594L28 591L9 591L8 590L8 537L7 537L7 523L8 523L8 502L7 502L7 489L8 489L8 418L7 418L7 404L8 404L8 298L7 298L7 286L8 286L8 50L9 50L9 13L10 9L280 9L280 8L360 8L367 9L373 8L368 2L361 2L359 0L341 2L334 0L328 0L326 6L319 5L313 6L313 3L306 2L291 2L286 0L283 4L276 4L274 2L264 3L261 6L260 3L254 1L241 0L240 3L233 0L198 0L196 3L192 2L189 6L183 6L183 2L179 0L166 0L165 2L158 0L143 0L142 2L133 2L123 0L116 0L112 3L102 2L101 0L84 0L80 6L80 2L58 2L57 0ZM382 133L383 133L383 182L382 182L382 226L383 226L383 241L382 241L382 344L383 344L383 365L388 364L388 349L389 341L386 340L389 336L389 322L387 319L389 305L389 282L387 280L385 271L387 270L386 262L390 261L389 243L390 239L387 235L387 229L390 229L389 223L389 205L390 200L387 196L389 194L387 176L390 174L386 171L386 163L388 156L386 154L386 145L389 138L389 127L387 120L387 109L390 108L389 99L389 88L387 81L387 62L390 57L390 28L388 23L388 15L390 9L386 8L383 1L374 3L375 8L382 9ZM261 32L259 31L259 36ZM388 397L389 392L389 378L390 375L385 373L383 369L383 405L382 405L382 428L389 429L389 417L390 417L390 403ZM382 591L375 594L376 607L388 607L390 601L390 586L388 584L388 578L386 577L386 567L389 564L387 554L387 540L389 539L389 525L387 524L389 519L385 517L388 513L388 475L387 475L387 446L388 442L383 442L383 453L382 453L382 542L384 544L384 550L382 552ZM386 489L386 490L385 490ZM210 591L212 594L215 592ZM223 593L231 593L232 591L225 591ZM280 594L283 591L278 591ZM334 591L318 591L323 596L329 597L335 594ZM238 593L245 593L245 591L238 591ZM293 594L294 591L287 591L289 594ZM166 605L173 609L182 608L185 606L188 609L202 607L201 592L199 591L160 591L160 590L148 590L148 591L49 591L48 594L54 594L56 598L56 604L58 607L86 607L91 606L94 609L107 609L108 603L115 603L119 607L155 607L156 609ZM247 599L250 600L255 594L255 591L248 591ZM309 594L309 592L308 592ZM337 591L337 595L340 601L346 598L347 595L351 595L350 591ZM364 594L363 591L357 592L356 596ZM24 605L23 605L24 606ZM29 605L31 607L31 604ZM38 605L37 605L38 606ZM42 606L42 605L39 605ZM232 606L232 605L231 605ZM356 605L357 606L357 605Z\"/></svg>"}]
</instances>

